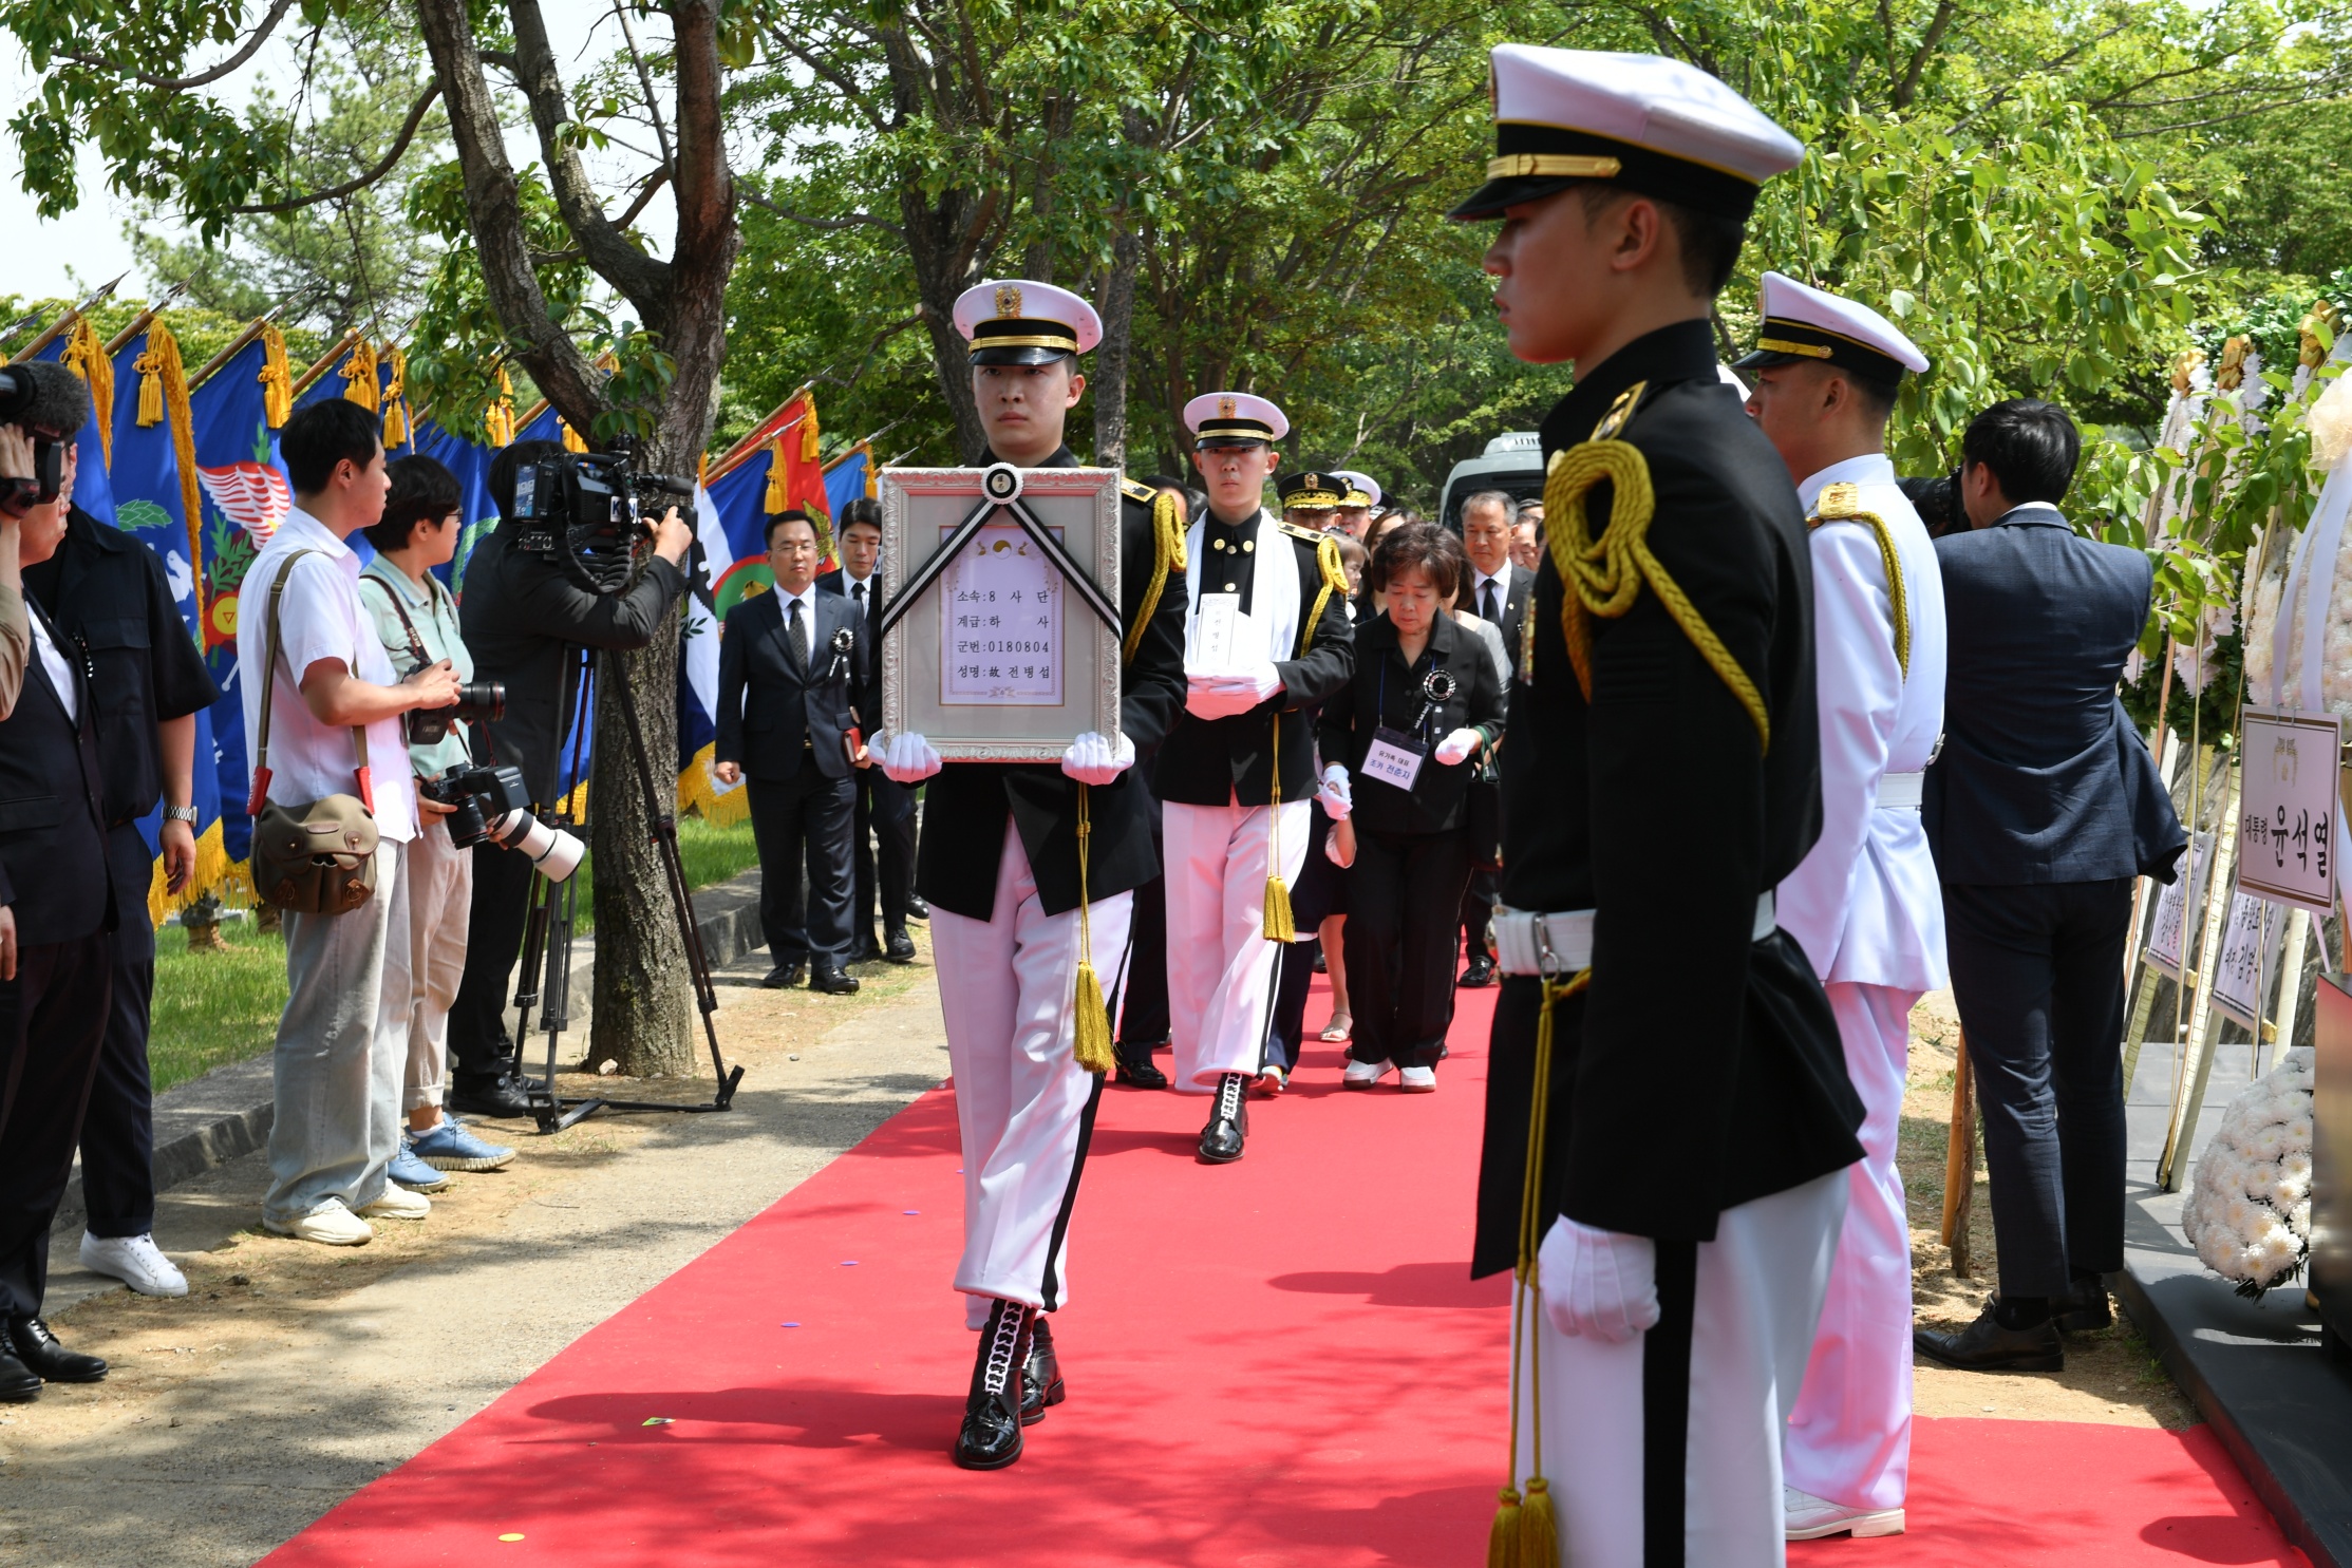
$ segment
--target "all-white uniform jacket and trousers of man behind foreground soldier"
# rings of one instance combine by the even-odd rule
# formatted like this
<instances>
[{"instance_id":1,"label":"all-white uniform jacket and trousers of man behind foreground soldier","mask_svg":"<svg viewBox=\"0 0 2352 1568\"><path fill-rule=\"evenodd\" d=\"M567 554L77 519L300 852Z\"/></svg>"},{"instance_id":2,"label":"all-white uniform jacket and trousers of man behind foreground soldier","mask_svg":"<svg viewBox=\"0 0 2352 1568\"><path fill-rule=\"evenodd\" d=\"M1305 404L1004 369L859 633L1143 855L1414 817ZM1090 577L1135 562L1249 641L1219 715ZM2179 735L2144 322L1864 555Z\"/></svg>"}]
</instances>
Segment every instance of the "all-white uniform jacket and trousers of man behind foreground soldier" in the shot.
<instances>
[{"instance_id":1,"label":"all-white uniform jacket and trousers of man behind foreground soldier","mask_svg":"<svg viewBox=\"0 0 2352 1568\"><path fill-rule=\"evenodd\" d=\"M1811 531L1820 689L1820 842L1780 884L1780 926L1830 992L1863 1098L1863 1159L1788 1425L1790 1486L1856 1509L1903 1507L1910 1474L1910 1218L1896 1173L1910 1011L1947 983L1943 891L1919 823L1917 773L1943 731L1945 621L1936 545L1884 456L1846 458L1797 487L1856 484L1903 564L1910 670L1896 663L1886 557L1867 522ZM1893 776L1882 790L1882 776ZM1912 778L1903 778L1912 776ZM1882 799L1884 795L1884 799ZM1896 804L1900 802L1900 804Z\"/></svg>"}]
</instances>

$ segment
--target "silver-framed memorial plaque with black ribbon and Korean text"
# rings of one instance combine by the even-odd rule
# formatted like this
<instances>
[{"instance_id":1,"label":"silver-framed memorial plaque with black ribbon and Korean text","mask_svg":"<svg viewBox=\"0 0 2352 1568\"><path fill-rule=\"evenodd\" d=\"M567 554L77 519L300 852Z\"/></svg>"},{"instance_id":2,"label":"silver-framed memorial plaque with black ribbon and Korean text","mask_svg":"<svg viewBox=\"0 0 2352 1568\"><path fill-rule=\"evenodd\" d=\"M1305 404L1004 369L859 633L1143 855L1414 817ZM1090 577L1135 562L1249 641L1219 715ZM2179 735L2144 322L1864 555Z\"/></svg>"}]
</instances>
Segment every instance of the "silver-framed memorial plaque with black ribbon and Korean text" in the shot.
<instances>
[{"instance_id":1,"label":"silver-framed memorial plaque with black ribbon and Korean text","mask_svg":"<svg viewBox=\"0 0 2352 1568\"><path fill-rule=\"evenodd\" d=\"M882 726L948 762L1120 733L1120 475L884 468Z\"/></svg>"}]
</instances>

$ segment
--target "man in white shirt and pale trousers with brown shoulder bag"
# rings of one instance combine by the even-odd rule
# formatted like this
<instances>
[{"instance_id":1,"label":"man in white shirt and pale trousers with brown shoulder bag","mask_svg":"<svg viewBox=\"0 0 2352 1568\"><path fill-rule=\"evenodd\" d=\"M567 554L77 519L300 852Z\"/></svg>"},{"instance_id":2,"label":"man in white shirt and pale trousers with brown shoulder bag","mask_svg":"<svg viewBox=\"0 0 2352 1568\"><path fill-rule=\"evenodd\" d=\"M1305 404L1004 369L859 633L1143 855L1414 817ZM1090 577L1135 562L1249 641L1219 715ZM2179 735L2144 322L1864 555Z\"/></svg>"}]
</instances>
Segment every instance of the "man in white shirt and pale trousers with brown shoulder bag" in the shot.
<instances>
[{"instance_id":1,"label":"man in white shirt and pale trousers with brown shoulder bag","mask_svg":"<svg viewBox=\"0 0 2352 1568\"><path fill-rule=\"evenodd\" d=\"M280 451L294 510L245 574L254 597L238 637L256 795L294 813L355 795L379 842L374 889L358 907L285 910L287 1009L261 1225L296 1241L360 1246L376 1234L369 1215L433 1213L430 1199L386 1175L400 1152L412 990L402 872L416 837L400 715L449 708L459 691L447 663L400 679L360 602L360 557L343 541L383 520L390 477L376 416L343 397L313 402L287 421Z\"/></svg>"}]
</instances>

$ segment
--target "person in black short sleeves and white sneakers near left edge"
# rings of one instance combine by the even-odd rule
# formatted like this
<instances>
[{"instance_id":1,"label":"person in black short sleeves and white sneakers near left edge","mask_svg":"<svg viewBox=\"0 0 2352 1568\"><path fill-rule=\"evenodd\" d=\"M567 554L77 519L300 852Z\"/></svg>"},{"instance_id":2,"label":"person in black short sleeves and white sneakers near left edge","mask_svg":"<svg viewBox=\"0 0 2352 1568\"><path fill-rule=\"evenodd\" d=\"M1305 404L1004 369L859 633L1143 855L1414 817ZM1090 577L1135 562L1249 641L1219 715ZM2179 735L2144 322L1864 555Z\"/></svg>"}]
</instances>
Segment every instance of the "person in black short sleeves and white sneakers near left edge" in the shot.
<instances>
[{"instance_id":1,"label":"person in black short sleeves and white sneakers near left edge","mask_svg":"<svg viewBox=\"0 0 2352 1568\"><path fill-rule=\"evenodd\" d=\"M186 1295L188 1281L155 1248L155 1095L148 1074L148 1011L155 997L155 926L148 884L162 858L179 893L195 875L195 715L221 689L179 616L172 583L151 548L73 505L75 454L66 449L56 508L64 541L24 567L26 595L89 668L99 743L99 811L120 924L113 940L113 1009L99 1074L82 1114L82 1197L89 1225L82 1267L141 1295ZM209 757L207 757L209 762ZM162 799L155 844L139 820Z\"/></svg>"}]
</instances>

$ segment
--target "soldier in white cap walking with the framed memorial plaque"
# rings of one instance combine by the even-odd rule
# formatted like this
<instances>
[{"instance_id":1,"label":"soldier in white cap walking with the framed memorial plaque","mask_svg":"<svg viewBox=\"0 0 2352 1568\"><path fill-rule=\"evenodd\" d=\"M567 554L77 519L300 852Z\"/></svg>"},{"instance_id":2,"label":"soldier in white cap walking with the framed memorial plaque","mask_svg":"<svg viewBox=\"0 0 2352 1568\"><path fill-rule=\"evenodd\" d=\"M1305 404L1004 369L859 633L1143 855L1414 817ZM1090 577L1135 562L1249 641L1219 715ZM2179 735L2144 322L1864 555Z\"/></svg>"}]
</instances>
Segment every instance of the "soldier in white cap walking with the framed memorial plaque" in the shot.
<instances>
[{"instance_id":1,"label":"soldier in white cap walking with the framed memorial plaque","mask_svg":"<svg viewBox=\"0 0 2352 1568\"><path fill-rule=\"evenodd\" d=\"M988 428L978 461L1077 468L1063 421L1087 390L1077 355L1103 336L1094 306L1044 282L983 282L955 303L955 327L971 343L971 393ZM929 778L915 886L931 905L964 1140L955 1288L967 1326L981 1331L955 1439L964 1469L1018 1460L1021 1427L1063 1399L1040 1314L1068 1298L1070 1208L1110 1067L1101 1009L1127 950L1134 889L1160 870L1150 802L1129 769L1183 705L1183 595L1171 581L1181 548L1174 501L1122 480L1115 738L1080 736L1061 766L941 766L917 733L875 738L896 783ZM1091 954L1112 957L1096 971ZM1098 1060L1082 1063L1089 1013L1101 1025Z\"/></svg>"}]
</instances>

